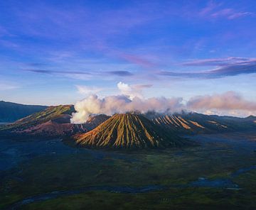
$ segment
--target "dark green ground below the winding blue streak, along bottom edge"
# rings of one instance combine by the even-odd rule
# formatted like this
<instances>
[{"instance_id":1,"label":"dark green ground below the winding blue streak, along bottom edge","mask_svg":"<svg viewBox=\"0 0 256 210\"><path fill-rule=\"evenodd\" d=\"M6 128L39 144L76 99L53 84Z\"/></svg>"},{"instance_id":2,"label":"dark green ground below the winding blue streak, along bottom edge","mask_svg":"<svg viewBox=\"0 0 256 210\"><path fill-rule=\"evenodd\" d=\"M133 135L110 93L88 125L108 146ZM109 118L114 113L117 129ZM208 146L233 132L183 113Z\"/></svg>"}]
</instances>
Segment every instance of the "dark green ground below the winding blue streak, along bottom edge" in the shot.
<instances>
[{"instance_id":1,"label":"dark green ground below the winding blue streak, along bottom edge","mask_svg":"<svg viewBox=\"0 0 256 210\"><path fill-rule=\"evenodd\" d=\"M255 196L240 197L240 192L223 189L169 189L147 194L87 192L29 204L21 209L255 209ZM246 203L241 203L246 201Z\"/></svg>"}]
</instances>

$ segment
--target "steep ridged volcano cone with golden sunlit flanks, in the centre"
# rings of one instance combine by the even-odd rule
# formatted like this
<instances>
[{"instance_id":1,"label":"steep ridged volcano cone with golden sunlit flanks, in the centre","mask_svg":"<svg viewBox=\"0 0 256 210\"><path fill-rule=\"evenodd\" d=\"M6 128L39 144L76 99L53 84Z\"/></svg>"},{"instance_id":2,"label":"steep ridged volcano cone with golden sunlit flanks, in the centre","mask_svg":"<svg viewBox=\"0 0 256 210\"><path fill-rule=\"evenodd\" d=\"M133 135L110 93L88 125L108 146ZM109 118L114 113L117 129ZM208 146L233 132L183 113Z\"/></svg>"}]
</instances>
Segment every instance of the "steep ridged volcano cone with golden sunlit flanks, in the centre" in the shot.
<instances>
[{"instance_id":1,"label":"steep ridged volcano cone with golden sunlit flanks, in the centre","mask_svg":"<svg viewBox=\"0 0 256 210\"><path fill-rule=\"evenodd\" d=\"M189 142L139 114L114 114L90 132L73 136L88 148L169 148Z\"/></svg>"}]
</instances>

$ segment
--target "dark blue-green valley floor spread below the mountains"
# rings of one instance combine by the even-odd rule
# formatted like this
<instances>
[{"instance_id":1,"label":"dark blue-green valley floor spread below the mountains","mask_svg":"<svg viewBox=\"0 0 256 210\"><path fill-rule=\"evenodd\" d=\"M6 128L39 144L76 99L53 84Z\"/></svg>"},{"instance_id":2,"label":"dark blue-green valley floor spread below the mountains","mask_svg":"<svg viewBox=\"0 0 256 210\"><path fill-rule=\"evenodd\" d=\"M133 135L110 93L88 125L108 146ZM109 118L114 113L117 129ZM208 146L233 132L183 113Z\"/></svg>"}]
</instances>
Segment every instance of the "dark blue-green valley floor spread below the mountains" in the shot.
<instances>
[{"instance_id":1,"label":"dark blue-green valley floor spread below the mountains","mask_svg":"<svg viewBox=\"0 0 256 210\"><path fill-rule=\"evenodd\" d=\"M254 209L255 133L188 137L200 146L110 151L1 139L0 207Z\"/></svg>"}]
</instances>

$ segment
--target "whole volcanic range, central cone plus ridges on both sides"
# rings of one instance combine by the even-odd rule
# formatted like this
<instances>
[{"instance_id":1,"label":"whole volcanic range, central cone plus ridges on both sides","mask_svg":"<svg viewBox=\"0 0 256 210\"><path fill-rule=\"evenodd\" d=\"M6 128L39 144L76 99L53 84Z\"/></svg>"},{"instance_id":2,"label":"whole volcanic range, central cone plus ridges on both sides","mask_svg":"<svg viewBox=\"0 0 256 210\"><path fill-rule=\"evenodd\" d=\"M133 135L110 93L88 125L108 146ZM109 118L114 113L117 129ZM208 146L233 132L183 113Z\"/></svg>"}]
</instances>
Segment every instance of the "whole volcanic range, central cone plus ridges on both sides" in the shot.
<instances>
[{"instance_id":1,"label":"whole volcanic range, central cone plus ridges on both sides","mask_svg":"<svg viewBox=\"0 0 256 210\"><path fill-rule=\"evenodd\" d=\"M185 112L92 115L85 123L70 123L73 105L49 106L14 123L1 133L18 136L69 137L89 148L165 148L189 145L179 136L198 133L255 131L256 117L238 118Z\"/></svg>"}]
</instances>

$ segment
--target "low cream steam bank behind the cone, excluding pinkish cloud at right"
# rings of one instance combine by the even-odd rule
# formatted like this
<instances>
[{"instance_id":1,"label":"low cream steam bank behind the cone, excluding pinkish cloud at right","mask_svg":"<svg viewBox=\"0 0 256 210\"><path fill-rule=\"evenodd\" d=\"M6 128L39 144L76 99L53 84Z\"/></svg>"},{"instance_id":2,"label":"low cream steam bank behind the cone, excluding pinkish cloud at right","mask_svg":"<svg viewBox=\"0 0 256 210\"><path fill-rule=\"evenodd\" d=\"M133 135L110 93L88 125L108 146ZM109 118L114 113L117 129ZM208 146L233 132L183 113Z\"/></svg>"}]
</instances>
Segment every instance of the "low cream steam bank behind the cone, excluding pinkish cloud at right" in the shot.
<instances>
[{"instance_id":1,"label":"low cream steam bank behind the cone, excluding pinkish cloud at right","mask_svg":"<svg viewBox=\"0 0 256 210\"><path fill-rule=\"evenodd\" d=\"M181 98L166 99L150 98L140 99L134 97L129 99L128 96L107 96L103 99L98 98L97 95L91 95L82 101L75 104L75 110L71 121L73 123L84 123L91 114L117 114L126 113L128 111L139 111L145 113L147 111L181 111Z\"/></svg>"}]
</instances>

